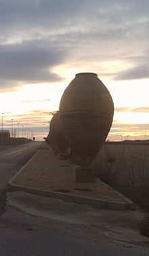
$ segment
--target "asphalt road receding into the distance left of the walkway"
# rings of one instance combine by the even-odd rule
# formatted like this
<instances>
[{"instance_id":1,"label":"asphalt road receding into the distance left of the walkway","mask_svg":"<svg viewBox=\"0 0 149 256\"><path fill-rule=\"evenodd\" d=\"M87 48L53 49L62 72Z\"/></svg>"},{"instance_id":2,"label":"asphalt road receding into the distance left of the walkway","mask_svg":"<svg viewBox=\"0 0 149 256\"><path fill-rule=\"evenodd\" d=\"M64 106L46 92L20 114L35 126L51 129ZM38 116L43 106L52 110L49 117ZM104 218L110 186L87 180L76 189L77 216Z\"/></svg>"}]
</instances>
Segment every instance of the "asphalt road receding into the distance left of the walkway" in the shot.
<instances>
[{"instance_id":1,"label":"asphalt road receding into the distance left of the walkway","mask_svg":"<svg viewBox=\"0 0 149 256\"><path fill-rule=\"evenodd\" d=\"M30 142L8 146L0 151L0 190L5 189L9 179L26 164L40 145L41 142Z\"/></svg>"}]
</instances>

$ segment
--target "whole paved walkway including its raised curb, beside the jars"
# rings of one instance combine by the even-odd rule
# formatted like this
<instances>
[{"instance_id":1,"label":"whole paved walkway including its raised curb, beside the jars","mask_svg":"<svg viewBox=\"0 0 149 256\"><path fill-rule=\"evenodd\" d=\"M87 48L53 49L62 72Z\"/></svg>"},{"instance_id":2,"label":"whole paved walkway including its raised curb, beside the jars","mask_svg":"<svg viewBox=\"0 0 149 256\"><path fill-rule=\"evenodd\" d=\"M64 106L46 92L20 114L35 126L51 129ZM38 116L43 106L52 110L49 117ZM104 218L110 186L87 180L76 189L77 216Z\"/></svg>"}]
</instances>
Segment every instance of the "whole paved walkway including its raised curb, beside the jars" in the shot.
<instances>
[{"instance_id":1,"label":"whole paved walkway including its raised curb, beside the jars","mask_svg":"<svg viewBox=\"0 0 149 256\"><path fill-rule=\"evenodd\" d=\"M76 183L77 165L71 160L59 160L47 143L10 181L18 190L70 202L90 204L119 210L135 210L135 204L102 181Z\"/></svg>"}]
</instances>

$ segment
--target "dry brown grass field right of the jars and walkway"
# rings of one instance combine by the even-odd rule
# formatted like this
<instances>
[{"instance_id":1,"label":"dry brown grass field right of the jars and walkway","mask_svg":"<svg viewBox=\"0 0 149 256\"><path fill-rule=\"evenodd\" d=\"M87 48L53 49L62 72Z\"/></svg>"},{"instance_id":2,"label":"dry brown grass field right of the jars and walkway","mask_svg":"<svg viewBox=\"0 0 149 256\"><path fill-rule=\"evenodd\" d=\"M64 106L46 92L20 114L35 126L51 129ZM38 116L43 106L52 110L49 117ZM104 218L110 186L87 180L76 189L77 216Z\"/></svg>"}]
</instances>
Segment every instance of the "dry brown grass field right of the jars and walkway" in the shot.
<instances>
[{"instance_id":1,"label":"dry brown grass field right of the jars and walkway","mask_svg":"<svg viewBox=\"0 0 149 256\"><path fill-rule=\"evenodd\" d=\"M93 166L102 181L149 207L149 144L104 144Z\"/></svg>"}]
</instances>

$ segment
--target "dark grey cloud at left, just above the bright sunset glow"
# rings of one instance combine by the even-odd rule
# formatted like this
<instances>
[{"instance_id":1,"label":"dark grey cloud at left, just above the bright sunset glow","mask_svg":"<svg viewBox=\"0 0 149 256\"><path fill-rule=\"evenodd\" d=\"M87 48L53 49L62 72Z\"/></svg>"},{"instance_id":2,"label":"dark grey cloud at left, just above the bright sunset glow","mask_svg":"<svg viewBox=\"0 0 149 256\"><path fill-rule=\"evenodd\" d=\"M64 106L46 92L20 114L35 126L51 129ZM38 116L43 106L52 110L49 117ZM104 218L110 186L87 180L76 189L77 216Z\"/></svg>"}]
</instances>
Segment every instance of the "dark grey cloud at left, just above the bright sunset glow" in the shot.
<instances>
[{"instance_id":1,"label":"dark grey cloud at left, just above the bright sunset glow","mask_svg":"<svg viewBox=\"0 0 149 256\"><path fill-rule=\"evenodd\" d=\"M44 82L60 81L50 71L64 62L66 52L60 48L40 45L38 41L0 45L0 77L3 80ZM5 83L7 84L7 83Z\"/></svg>"}]
</instances>

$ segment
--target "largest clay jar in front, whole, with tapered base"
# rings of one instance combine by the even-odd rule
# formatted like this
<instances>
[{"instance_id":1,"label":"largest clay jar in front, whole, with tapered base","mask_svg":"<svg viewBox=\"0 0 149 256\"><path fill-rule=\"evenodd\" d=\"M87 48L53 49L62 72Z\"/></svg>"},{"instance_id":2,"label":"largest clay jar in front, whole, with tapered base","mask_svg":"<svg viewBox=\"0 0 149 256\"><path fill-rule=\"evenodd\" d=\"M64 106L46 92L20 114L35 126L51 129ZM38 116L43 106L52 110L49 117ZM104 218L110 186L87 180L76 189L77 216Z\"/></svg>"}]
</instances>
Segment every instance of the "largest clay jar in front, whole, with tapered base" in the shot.
<instances>
[{"instance_id":1,"label":"largest clay jar in front, whole, with tapered base","mask_svg":"<svg viewBox=\"0 0 149 256\"><path fill-rule=\"evenodd\" d=\"M78 73L60 100L60 122L75 162L87 166L112 125L114 104L95 73Z\"/></svg>"}]
</instances>

